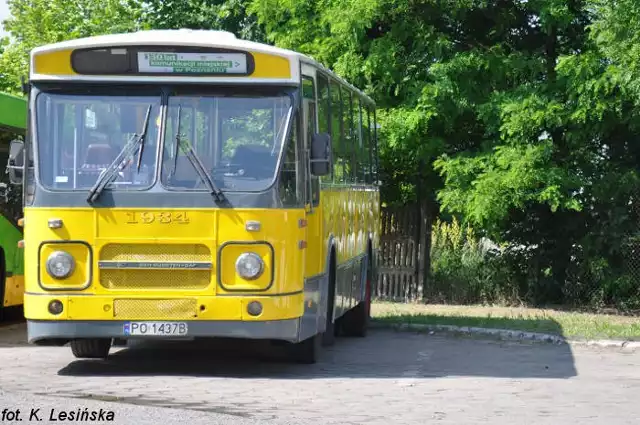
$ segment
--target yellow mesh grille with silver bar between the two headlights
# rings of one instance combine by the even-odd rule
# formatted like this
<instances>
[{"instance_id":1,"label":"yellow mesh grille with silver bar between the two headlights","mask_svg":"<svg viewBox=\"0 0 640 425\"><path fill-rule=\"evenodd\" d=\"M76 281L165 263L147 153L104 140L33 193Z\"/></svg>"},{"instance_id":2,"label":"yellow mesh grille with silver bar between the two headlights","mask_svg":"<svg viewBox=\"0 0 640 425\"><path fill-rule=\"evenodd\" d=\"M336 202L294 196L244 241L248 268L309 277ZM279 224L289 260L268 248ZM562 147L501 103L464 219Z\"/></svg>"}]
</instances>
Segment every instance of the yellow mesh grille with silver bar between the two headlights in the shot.
<instances>
[{"instance_id":1,"label":"yellow mesh grille with silver bar between the two headlights","mask_svg":"<svg viewBox=\"0 0 640 425\"><path fill-rule=\"evenodd\" d=\"M100 251L100 261L210 262L209 248L201 244L110 244ZM210 269L100 269L100 284L113 290L205 289Z\"/></svg>"}]
</instances>

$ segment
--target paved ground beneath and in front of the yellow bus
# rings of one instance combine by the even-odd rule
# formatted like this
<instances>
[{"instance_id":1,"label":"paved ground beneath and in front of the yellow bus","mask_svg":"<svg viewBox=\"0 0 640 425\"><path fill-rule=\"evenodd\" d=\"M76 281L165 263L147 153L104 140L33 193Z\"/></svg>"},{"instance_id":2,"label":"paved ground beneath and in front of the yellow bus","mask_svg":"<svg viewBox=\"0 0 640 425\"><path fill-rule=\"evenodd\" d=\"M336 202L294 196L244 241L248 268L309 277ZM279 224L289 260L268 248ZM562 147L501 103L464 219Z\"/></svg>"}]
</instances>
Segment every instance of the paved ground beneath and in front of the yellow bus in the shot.
<instances>
[{"instance_id":1,"label":"paved ground beneath and in front of the yellow bus","mask_svg":"<svg viewBox=\"0 0 640 425\"><path fill-rule=\"evenodd\" d=\"M223 341L144 344L107 361L24 341L24 325L0 329L0 412L103 406L119 424L640 421L640 353L612 349L376 330L339 339L323 361L303 366ZM266 354L243 355L256 351Z\"/></svg>"}]
</instances>

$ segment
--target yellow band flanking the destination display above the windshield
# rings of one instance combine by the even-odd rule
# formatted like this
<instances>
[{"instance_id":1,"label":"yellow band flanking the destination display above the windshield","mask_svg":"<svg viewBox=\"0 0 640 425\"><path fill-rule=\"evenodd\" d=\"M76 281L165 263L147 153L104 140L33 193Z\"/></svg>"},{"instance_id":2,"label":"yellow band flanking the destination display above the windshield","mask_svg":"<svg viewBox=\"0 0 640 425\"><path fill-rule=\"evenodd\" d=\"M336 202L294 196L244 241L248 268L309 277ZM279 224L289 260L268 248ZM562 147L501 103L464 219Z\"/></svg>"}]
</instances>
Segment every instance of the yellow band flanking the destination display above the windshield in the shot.
<instances>
[{"instance_id":1,"label":"yellow band flanking the destination display above the windshield","mask_svg":"<svg viewBox=\"0 0 640 425\"><path fill-rule=\"evenodd\" d=\"M33 73L61 77L79 75L71 67L71 53L73 50L57 50L34 55ZM253 56L255 63L254 71L249 78L291 78L291 66L287 58L259 52L249 53ZM233 74L226 76L234 77ZM199 76L193 75L192 77L198 78ZM242 76L238 78L242 78Z\"/></svg>"}]
</instances>

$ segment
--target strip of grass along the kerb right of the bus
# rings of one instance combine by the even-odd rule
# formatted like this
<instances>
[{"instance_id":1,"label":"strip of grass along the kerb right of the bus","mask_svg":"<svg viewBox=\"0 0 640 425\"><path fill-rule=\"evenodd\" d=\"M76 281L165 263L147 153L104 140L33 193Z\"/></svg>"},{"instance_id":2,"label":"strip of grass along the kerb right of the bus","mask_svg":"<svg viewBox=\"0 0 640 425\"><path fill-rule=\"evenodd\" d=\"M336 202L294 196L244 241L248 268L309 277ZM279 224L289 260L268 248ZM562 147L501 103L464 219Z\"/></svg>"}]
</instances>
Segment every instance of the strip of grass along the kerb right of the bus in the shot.
<instances>
[{"instance_id":1,"label":"strip of grass along the kerb right of the bus","mask_svg":"<svg viewBox=\"0 0 640 425\"><path fill-rule=\"evenodd\" d=\"M374 302L376 322L473 326L542 332L568 339L640 340L640 317L556 309Z\"/></svg>"}]
</instances>

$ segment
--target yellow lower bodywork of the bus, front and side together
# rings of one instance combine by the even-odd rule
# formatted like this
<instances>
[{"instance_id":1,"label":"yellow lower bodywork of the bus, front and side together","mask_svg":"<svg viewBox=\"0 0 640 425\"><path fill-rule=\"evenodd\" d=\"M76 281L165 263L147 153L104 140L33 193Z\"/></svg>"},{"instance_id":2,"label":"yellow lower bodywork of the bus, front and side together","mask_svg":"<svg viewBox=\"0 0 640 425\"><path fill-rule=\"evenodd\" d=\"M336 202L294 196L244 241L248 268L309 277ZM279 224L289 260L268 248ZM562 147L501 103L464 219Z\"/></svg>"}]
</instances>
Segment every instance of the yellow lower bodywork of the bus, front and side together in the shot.
<instances>
[{"instance_id":1,"label":"yellow lower bodywork of the bus, front and side together","mask_svg":"<svg viewBox=\"0 0 640 425\"><path fill-rule=\"evenodd\" d=\"M377 248L379 223L373 212L378 203L377 191L324 188L320 205L311 213L304 209L27 207L25 317L226 321L301 317L305 303L320 301L317 294L303 293L304 283L305 278L327 271L331 237L338 265L366 254L369 237ZM63 226L49 228L51 218L62 220ZM306 226L301 225L304 220ZM248 231L247 221L260 222L260 229ZM57 249L76 259L74 274L66 281L56 281L46 271L46 258ZM241 279L235 271L238 255L249 251L265 261L263 275L254 281ZM99 262L206 262L211 267L101 268ZM336 294L338 305L354 306L354 296ZM63 303L60 315L48 312L47 305L54 299ZM257 317L247 313L247 305L254 300L263 305Z\"/></svg>"}]
</instances>

